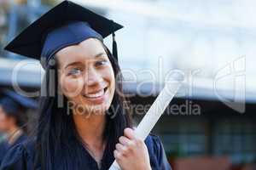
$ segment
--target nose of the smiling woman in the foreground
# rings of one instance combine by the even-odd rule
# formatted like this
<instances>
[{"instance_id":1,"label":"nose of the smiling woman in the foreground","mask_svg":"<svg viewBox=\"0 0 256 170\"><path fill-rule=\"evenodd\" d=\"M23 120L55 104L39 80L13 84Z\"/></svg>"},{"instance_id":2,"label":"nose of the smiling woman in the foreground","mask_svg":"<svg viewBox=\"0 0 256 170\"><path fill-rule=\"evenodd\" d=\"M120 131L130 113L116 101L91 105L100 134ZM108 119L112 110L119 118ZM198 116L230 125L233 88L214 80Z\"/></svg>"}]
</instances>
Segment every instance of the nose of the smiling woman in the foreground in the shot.
<instances>
[{"instance_id":1,"label":"nose of the smiling woman in the foreground","mask_svg":"<svg viewBox=\"0 0 256 170\"><path fill-rule=\"evenodd\" d=\"M96 86L103 81L102 74L94 68L87 69L84 75L85 86Z\"/></svg>"}]
</instances>

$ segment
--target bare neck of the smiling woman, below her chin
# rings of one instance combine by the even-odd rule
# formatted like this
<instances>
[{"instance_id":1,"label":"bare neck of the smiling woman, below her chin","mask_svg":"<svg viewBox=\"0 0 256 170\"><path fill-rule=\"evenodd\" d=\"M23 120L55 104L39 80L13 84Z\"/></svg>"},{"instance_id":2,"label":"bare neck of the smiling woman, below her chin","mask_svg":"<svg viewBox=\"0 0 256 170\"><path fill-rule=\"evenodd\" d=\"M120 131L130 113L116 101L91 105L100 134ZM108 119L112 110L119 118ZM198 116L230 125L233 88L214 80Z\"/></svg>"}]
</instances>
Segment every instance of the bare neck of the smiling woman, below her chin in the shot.
<instances>
[{"instance_id":1,"label":"bare neck of the smiling woman, below her chin","mask_svg":"<svg viewBox=\"0 0 256 170\"><path fill-rule=\"evenodd\" d=\"M103 133L106 124L106 116L104 114L73 115L77 132L83 142L89 145L103 145Z\"/></svg>"}]
</instances>

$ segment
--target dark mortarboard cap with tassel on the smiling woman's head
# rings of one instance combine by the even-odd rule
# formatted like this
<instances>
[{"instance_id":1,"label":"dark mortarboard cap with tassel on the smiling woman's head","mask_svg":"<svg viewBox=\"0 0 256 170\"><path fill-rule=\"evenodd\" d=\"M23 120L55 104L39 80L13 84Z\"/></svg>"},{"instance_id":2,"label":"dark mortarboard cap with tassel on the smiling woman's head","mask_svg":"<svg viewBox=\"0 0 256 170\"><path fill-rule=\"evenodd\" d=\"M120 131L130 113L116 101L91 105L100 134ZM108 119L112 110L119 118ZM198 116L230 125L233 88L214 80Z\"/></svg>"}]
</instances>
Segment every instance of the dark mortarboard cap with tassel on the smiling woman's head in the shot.
<instances>
[{"instance_id":1,"label":"dark mortarboard cap with tassel on the smiling woman's head","mask_svg":"<svg viewBox=\"0 0 256 170\"><path fill-rule=\"evenodd\" d=\"M63 1L34 21L4 48L15 54L41 59L45 68L61 48L96 37L113 35L113 57L118 59L114 31L123 26L70 1ZM46 61L46 63L42 63Z\"/></svg>"}]
</instances>

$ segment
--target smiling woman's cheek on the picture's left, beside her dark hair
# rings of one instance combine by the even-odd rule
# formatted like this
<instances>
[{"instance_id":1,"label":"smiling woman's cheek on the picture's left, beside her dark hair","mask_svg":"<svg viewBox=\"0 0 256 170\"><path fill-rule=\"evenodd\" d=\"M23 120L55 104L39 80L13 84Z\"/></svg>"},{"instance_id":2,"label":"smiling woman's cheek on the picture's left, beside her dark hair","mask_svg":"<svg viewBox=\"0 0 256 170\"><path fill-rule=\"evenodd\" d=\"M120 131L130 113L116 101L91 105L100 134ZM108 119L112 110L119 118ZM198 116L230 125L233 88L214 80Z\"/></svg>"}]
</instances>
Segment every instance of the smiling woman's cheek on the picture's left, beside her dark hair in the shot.
<instances>
[{"instance_id":1,"label":"smiling woman's cheek on the picture's left, beside her dark hair","mask_svg":"<svg viewBox=\"0 0 256 170\"><path fill-rule=\"evenodd\" d=\"M61 91L67 97L76 97L83 90L84 79L82 77L70 78L62 76L60 79Z\"/></svg>"}]
</instances>

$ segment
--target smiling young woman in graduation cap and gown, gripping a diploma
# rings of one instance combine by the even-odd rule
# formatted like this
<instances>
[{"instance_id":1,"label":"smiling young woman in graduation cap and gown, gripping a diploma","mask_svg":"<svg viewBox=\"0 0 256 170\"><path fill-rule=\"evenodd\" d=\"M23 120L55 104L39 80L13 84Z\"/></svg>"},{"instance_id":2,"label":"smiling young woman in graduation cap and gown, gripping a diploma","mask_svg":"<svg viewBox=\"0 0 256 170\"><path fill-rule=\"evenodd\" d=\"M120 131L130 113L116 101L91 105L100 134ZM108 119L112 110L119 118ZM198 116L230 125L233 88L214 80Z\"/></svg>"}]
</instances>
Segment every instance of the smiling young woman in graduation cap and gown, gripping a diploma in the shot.
<instances>
[{"instance_id":1,"label":"smiling young woman in graduation cap and gown, gripping a diploma","mask_svg":"<svg viewBox=\"0 0 256 170\"><path fill-rule=\"evenodd\" d=\"M10 150L0 169L107 170L114 159L123 170L171 169L160 139L137 138L124 109L116 43L113 54L103 43L121 27L64 1L7 46L41 57L45 93L36 139Z\"/></svg>"}]
</instances>

